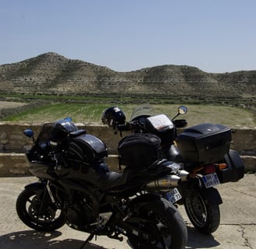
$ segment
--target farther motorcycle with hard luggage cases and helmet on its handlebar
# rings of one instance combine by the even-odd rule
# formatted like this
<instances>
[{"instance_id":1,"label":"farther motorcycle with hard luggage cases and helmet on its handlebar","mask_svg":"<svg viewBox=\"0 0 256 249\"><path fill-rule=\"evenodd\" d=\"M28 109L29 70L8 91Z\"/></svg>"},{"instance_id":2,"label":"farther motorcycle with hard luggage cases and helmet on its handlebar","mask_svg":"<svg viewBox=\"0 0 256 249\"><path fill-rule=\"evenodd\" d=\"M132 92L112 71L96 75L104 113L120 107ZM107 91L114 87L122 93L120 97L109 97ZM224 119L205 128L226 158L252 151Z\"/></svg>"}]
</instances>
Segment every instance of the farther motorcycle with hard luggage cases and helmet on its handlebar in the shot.
<instances>
[{"instance_id":1,"label":"farther motorcycle with hard luggage cases and helmet on its handlebar","mask_svg":"<svg viewBox=\"0 0 256 249\"><path fill-rule=\"evenodd\" d=\"M150 105L142 105L135 108L130 121L126 121L123 110L109 107L103 111L101 121L121 136L123 131L158 135L163 157L179 163L181 169L190 173L189 181L178 186L179 198L172 198L172 203L185 206L190 222L201 233L215 232L222 204L215 186L244 177L243 161L235 150L229 149L230 128L206 123L178 134L177 128L187 127L187 120L176 117L186 114L187 107L180 106L172 119L152 113Z\"/></svg>"}]
</instances>

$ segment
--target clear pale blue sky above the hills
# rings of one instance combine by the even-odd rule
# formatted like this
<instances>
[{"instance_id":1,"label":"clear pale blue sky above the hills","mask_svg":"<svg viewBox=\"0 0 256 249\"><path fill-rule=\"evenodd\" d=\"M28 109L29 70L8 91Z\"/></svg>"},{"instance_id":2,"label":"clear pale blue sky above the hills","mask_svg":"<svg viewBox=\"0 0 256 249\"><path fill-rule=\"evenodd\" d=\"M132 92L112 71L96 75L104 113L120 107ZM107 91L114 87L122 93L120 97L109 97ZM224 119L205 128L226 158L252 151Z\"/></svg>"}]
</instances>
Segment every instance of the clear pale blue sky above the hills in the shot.
<instances>
[{"instance_id":1,"label":"clear pale blue sky above the hills","mask_svg":"<svg viewBox=\"0 0 256 249\"><path fill-rule=\"evenodd\" d=\"M0 65L49 51L129 72L256 70L255 0L1 0Z\"/></svg>"}]
</instances>

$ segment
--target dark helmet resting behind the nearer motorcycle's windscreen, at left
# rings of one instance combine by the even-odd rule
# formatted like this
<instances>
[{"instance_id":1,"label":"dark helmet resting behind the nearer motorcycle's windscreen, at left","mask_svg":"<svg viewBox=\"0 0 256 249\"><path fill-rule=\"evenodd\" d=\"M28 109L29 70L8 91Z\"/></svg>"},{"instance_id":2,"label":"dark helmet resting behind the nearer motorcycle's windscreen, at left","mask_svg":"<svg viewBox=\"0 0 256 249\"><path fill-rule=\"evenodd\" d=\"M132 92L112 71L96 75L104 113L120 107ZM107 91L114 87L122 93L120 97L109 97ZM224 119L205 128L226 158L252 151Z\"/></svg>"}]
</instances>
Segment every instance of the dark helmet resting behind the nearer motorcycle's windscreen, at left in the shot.
<instances>
[{"instance_id":1,"label":"dark helmet resting behind the nearer motorcycle's windscreen, at left","mask_svg":"<svg viewBox=\"0 0 256 249\"><path fill-rule=\"evenodd\" d=\"M70 132L77 131L76 125L71 122L70 117L66 117L62 120L55 121L52 125L52 134L51 139L53 142L62 142L63 139L66 139L66 136Z\"/></svg>"}]
</instances>

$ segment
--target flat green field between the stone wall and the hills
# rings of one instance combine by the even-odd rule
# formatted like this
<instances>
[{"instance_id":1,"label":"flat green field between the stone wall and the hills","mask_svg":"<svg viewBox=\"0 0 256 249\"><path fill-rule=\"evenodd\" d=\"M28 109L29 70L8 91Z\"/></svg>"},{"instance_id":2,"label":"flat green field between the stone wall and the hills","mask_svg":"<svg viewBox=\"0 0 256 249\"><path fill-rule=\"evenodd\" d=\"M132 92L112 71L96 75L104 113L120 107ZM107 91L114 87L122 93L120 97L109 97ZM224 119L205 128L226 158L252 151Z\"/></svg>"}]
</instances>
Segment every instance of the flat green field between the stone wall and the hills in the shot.
<instances>
[{"instance_id":1,"label":"flat green field between the stone wall and the hills","mask_svg":"<svg viewBox=\"0 0 256 249\"><path fill-rule=\"evenodd\" d=\"M102 110L111 107L111 103L52 103L41 107L34 107L30 110L21 111L19 114L5 117L3 121L55 121L63 117L73 117L74 122L91 123L101 122ZM174 117L177 112L177 104L152 104L155 114L168 114ZM130 120L130 115L136 104L119 104L126 114L126 120ZM204 122L213 124L223 124L235 127L247 126L256 127L255 114L249 110L239 107L188 104L186 118L188 125L197 125Z\"/></svg>"}]
</instances>

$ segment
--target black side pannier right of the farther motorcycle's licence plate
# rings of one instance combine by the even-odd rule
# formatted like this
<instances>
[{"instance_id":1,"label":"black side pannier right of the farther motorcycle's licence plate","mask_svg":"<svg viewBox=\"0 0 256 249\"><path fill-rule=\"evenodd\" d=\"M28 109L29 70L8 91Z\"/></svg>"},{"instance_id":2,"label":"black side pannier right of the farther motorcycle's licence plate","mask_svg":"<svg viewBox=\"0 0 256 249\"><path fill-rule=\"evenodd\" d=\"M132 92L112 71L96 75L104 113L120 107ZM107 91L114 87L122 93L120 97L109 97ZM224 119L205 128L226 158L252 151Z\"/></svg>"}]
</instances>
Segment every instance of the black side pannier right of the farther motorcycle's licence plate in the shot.
<instances>
[{"instance_id":1,"label":"black side pannier right of the farther motorcycle's licence plate","mask_svg":"<svg viewBox=\"0 0 256 249\"><path fill-rule=\"evenodd\" d=\"M224 157L227 168L217 170L220 183L239 181L244 177L244 162L236 150L230 149Z\"/></svg>"}]
</instances>

